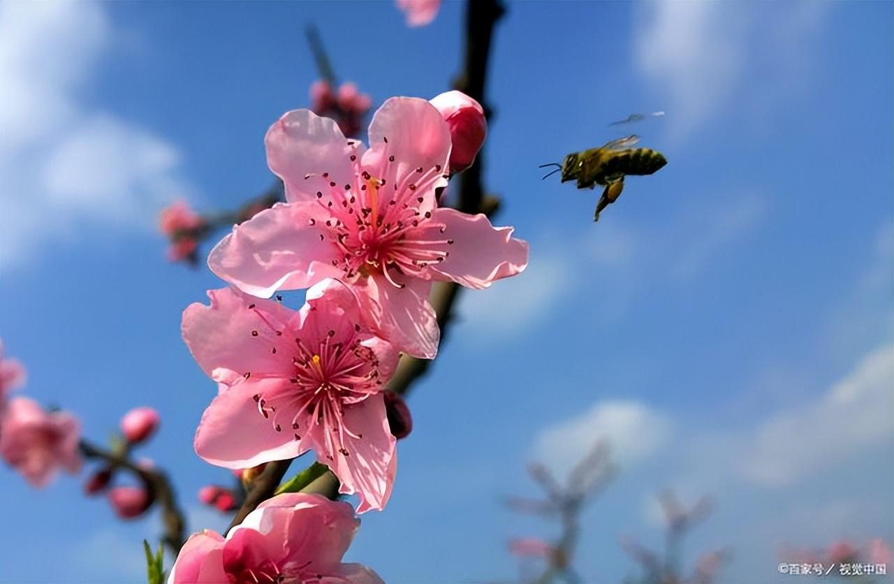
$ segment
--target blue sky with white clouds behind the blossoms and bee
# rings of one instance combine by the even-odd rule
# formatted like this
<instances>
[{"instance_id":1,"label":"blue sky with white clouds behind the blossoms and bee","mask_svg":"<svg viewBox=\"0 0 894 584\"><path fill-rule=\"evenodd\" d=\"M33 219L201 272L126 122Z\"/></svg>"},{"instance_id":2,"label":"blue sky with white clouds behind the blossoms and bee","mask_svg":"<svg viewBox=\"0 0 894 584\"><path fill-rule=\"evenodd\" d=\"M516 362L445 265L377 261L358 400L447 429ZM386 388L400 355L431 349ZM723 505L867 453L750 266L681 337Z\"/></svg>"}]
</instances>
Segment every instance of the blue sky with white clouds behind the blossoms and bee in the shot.
<instances>
[{"instance_id":1,"label":"blue sky with white clouds behind the blossoms and bee","mask_svg":"<svg viewBox=\"0 0 894 584\"><path fill-rule=\"evenodd\" d=\"M94 440L133 406L162 412L145 455L176 469L191 529L225 525L194 494L227 471L192 452L215 387L179 323L221 284L165 261L158 209L268 185L264 132L316 79L308 22L380 103L448 89L463 7L409 30L390 2L0 4L0 335L24 393ZM723 581L775 578L783 543L890 542L891 4L509 8L485 177L531 264L460 301L350 560L395 582L512 578L507 538L552 526L501 495L536 495L527 461L561 472L600 436L621 474L585 515L587 581L636 573L617 539L660 542L664 487L716 500L686 553L729 546ZM635 131L670 163L599 224L598 192L540 181L655 110ZM80 488L0 471L0 580L142 578L156 517L123 524Z\"/></svg>"}]
</instances>

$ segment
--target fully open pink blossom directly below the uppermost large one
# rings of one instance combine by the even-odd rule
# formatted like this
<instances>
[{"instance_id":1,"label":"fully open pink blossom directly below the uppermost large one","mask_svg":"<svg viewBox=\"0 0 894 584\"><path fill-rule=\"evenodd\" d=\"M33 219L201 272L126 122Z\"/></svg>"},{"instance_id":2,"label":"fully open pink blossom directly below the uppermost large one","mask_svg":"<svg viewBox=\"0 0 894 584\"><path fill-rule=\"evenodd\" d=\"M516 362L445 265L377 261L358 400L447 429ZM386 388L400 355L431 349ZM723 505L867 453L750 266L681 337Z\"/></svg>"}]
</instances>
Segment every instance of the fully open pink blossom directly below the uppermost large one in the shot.
<instances>
[{"instance_id":1,"label":"fully open pink blossom directly below the uppermost large one","mask_svg":"<svg viewBox=\"0 0 894 584\"><path fill-rule=\"evenodd\" d=\"M324 293L325 292L325 293ZM299 456L381 509L397 466L382 389L398 352L360 322L357 300L333 280L295 312L232 289L208 292L183 313L183 339L220 394L202 416L196 453L228 469Z\"/></svg>"}]
</instances>

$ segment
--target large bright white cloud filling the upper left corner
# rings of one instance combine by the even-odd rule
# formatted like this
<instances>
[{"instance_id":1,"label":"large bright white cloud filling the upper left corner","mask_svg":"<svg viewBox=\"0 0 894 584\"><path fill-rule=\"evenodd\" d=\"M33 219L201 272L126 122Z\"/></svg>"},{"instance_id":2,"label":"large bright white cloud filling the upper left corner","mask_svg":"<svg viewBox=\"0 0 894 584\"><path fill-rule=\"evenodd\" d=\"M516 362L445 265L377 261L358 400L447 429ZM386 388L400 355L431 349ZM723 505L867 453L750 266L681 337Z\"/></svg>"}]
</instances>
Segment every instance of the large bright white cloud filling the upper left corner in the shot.
<instances>
[{"instance_id":1,"label":"large bright white cloud filling the upper left corner","mask_svg":"<svg viewBox=\"0 0 894 584\"><path fill-rule=\"evenodd\" d=\"M0 267L189 193L170 143L82 96L113 34L94 3L0 3Z\"/></svg>"}]
</instances>

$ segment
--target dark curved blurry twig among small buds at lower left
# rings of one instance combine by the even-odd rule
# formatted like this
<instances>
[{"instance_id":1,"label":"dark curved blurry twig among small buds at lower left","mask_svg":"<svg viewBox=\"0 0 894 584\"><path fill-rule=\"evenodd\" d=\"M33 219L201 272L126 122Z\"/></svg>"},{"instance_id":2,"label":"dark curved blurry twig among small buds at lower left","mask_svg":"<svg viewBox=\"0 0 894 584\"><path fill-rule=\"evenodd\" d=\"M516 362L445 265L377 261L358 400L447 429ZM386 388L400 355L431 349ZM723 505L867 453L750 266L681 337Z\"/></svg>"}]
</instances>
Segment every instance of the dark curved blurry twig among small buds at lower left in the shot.
<instances>
[{"instance_id":1,"label":"dark curved blurry twig among small buds at lower left","mask_svg":"<svg viewBox=\"0 0 894 584\"><path fill-rule=\"evenodd\" d=\"M96 444L90 444L83 438L80 440L80 452L87 458L95 458L105 461L109 470L125 469L135 474L148 488L153 501L161 506L162 523L164 524L164 545L171 548L174 555L180 552L185 541L186 531L183 512L177 504L177 494L171 481L162 470L144 469L128 458L128 449L122 449L121 453L100 448Z\"/></svg>"}]
</instances>

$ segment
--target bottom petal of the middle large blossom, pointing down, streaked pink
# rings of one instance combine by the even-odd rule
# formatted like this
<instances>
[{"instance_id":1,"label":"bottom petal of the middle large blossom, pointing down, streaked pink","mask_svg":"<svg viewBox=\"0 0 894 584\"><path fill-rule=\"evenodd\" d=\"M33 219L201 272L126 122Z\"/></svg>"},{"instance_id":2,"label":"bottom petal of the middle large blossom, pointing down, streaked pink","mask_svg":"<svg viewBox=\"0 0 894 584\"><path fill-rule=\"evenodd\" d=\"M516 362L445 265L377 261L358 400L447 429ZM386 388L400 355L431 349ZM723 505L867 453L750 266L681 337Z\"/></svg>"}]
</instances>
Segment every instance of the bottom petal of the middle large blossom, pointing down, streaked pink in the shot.
<instances>
[{"instance_id":1,"label":"bottom petal of the middle large blossom, pointing down, streaked pink","mask_svg":"<svg viewBox=\"0 0 894 584\"><path fill-rule=\"evenodd\" d=\"M360 438L347 437L349 455L332 453L333 461L317 455L317 460L332 468L342 482L340 493L357 493L357 512L383 509L391 497L397 471L396 440L388 428L382 394L370 395L363 402L345 409L344 424ZM317 450L317 453L325 451Z\"/></svg>"}]
</instances>

